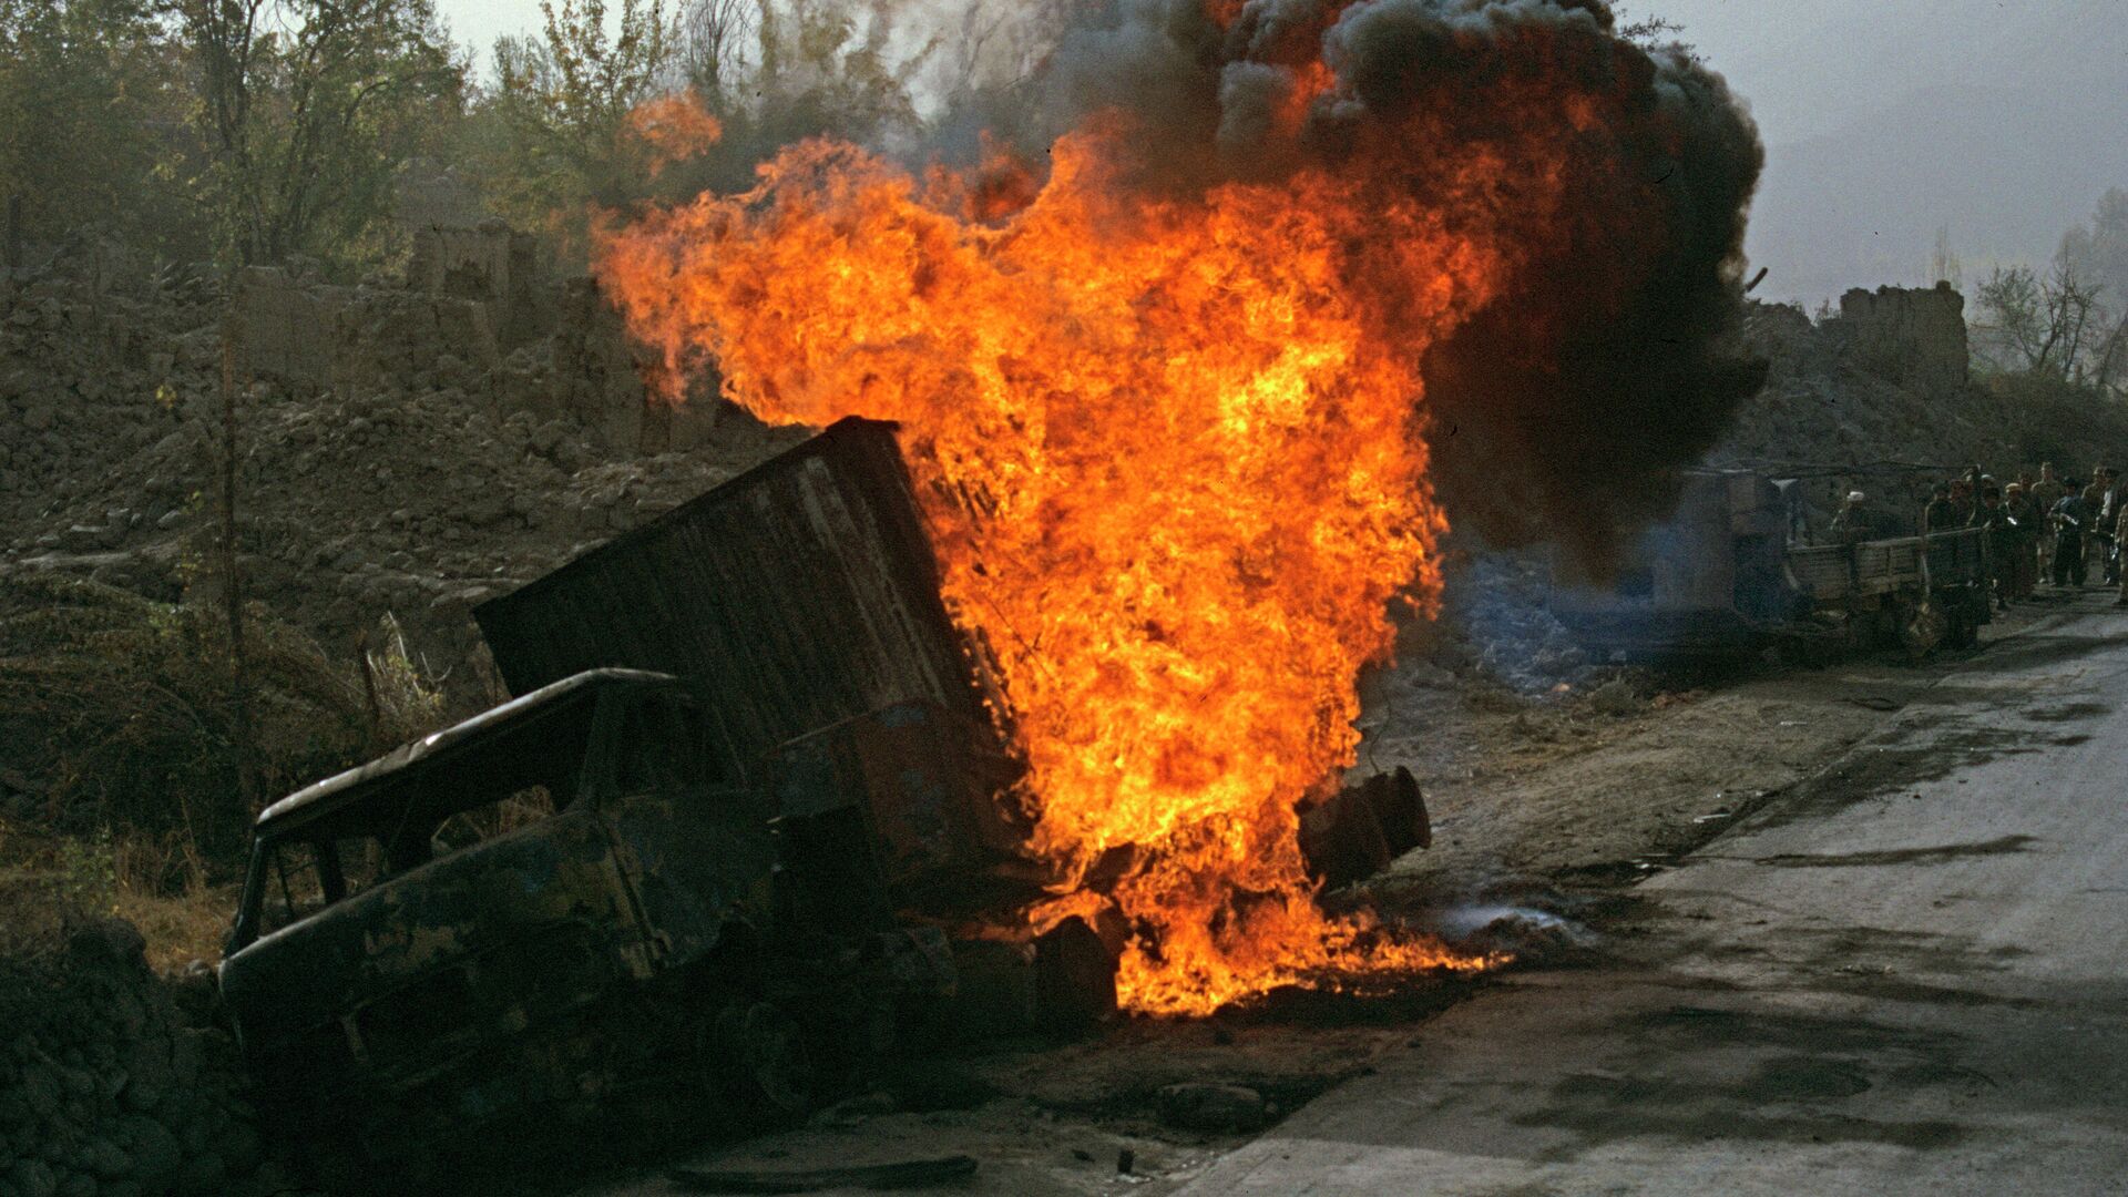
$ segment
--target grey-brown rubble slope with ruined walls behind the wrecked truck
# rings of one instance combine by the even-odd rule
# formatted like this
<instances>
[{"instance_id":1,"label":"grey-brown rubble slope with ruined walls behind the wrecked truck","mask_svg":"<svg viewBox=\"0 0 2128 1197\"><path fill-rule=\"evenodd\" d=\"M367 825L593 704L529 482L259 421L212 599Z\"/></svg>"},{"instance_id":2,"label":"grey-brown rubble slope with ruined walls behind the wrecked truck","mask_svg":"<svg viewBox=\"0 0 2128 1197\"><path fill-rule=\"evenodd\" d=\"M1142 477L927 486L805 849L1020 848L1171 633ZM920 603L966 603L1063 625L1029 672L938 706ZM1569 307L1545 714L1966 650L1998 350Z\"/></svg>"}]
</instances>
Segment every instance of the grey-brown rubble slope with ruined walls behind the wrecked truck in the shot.
<instances>
[{"instance_id":1,"label":"grey-brown rubble slope with ruined walls behind the wrecked truck","mask_svg":"<svg viewBox=\"0 0 2128 1197\"><path fill-rule=\"evenodd\" d=\"M466 701L487 696L462 671L475 603L794 439L717 400L651 405L587 281L504 285L530 313L281 270L247 273L234 309L247 594L349 658L392 616ZM192 298L74 258L0 290L0 571L160 601L211 573L223 324L213 290Z\"/></svg>"}]
</instances>

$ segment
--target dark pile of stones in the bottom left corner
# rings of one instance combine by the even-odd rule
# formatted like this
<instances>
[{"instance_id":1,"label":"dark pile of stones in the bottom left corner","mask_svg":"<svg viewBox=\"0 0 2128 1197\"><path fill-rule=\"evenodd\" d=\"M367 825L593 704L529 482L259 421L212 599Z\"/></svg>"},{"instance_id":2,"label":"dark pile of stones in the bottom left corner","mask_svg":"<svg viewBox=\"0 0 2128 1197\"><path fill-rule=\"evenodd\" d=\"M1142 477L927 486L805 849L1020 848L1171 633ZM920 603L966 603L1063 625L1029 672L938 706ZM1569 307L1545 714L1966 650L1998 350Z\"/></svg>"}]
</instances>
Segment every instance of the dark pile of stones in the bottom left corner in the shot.
<instances>
[{"instance_id":1,"label":"dark pile of stones in the bottom left corner","mask_svg":"<svg viewBox=\"0 0 2128 1197\"><path fill-rule=\"evenodd\" d=\"M264 1163L234 1044L181 1012L130 924L0 958L0 1191L296 1193Z\"/></svg>"}]
</instances>

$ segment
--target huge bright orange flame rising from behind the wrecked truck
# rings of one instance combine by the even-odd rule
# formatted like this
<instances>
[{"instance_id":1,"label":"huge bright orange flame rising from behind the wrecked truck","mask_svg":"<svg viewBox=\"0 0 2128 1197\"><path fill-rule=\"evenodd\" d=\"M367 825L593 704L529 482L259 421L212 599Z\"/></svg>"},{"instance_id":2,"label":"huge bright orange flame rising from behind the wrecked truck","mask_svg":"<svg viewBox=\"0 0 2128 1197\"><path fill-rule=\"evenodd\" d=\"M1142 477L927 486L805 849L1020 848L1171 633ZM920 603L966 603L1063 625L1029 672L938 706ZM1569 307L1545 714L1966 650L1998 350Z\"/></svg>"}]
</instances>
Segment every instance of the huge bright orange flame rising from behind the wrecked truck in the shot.
<instances>
[{"instance_id":1,"label":"huge bright orange flame rising from behind the wrecked truck","mask_svg":"<svg viewBox=\"0 0 2128 1197\"><path fill-rule=\"evenodd\" d=\"M604 234L598 270L670 394L713 362L772 422L902 424L947 601L1007 673L1038 848L1075 875L1130 854L1030 920L1113 903L1128 1007L1490 967L1324 916L1296 809L1353 763L1387 605L1439 596L1419 358L1517 266L1498 213L1541 224L1562 173L1441 153L1419 202L1387 138L1153 190L1132 132L1066 134L1024 187L1002 160L919 185L798 145L749 194Z\"/></svg>"}]
</instances>

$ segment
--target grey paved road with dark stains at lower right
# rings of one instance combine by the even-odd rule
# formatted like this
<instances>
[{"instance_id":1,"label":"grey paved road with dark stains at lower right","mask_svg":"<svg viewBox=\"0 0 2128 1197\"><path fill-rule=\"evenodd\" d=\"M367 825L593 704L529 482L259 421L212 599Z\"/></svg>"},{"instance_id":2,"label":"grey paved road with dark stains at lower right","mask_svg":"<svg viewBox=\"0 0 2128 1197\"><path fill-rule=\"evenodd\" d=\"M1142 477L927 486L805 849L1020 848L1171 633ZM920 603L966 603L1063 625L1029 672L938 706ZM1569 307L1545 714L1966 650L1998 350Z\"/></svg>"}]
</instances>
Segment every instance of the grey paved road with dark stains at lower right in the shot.
<instances>
[{"instance_id":1,"label":"grey paved road with dark stains at lower right","mask_svg":"<svg viewBox=\"0 0 2128 1197\"><path fill-rule=\"evenodd\" d=\"M2128 616L1977 654L1819 782L1183 1193L2128 1195Z\"/></svg>"}]
</instances>

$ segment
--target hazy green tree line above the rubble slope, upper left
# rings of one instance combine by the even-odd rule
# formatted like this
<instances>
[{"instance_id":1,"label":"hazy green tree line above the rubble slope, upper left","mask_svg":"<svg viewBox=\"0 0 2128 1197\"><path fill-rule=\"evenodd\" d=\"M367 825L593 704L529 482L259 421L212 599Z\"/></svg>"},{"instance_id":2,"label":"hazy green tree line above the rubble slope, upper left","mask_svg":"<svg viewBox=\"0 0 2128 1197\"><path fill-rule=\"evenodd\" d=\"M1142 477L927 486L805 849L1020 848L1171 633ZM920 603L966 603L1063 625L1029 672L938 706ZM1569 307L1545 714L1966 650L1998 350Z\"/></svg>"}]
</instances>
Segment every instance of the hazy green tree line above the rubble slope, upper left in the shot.
<instances>
[{"instance_id":1,"label":"hazy green tree line above the rubble slope, upper left","mask_svg":"<svg viewBox=\"0 0 2128 1197\"><path fill-rule=\"evenodd\" d=\"M434 0L0 0L0 234L11 256L104 234L347 275L411 224L500 215L581 251L598 207L745 187L813 134L911 147L998 104L1066 2L543 0L483 77ZM647 151L630 113L660 96L721 138Z\"/></svg>"}]
</instances>

